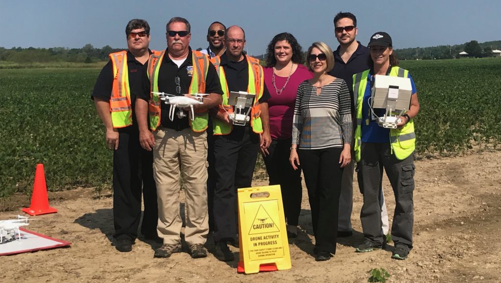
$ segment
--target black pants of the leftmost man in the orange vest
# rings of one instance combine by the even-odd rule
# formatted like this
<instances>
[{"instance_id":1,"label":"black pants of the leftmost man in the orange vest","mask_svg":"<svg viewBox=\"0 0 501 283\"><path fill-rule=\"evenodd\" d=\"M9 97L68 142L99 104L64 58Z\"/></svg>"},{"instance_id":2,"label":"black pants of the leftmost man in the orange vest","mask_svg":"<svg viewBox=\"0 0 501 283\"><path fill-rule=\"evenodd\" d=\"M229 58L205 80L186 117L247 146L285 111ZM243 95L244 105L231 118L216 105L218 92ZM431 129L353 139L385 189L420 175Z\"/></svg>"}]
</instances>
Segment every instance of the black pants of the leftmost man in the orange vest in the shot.
<instances>
[{"instance_id":1,"label":"black pants of the leftmost man in the orange vest","mask_svg":"<svg viewBox=\"0 0 501 283\"><path fill-rule=\"evenodd\" d=\"M137 129L123 129L119 133L118 149L113 153L115 238L137 238L141 219L141 192L144 196L141 233L156 235L158 207L153 179L153 152L141 147Z\"/></svg>"}]
</instances>

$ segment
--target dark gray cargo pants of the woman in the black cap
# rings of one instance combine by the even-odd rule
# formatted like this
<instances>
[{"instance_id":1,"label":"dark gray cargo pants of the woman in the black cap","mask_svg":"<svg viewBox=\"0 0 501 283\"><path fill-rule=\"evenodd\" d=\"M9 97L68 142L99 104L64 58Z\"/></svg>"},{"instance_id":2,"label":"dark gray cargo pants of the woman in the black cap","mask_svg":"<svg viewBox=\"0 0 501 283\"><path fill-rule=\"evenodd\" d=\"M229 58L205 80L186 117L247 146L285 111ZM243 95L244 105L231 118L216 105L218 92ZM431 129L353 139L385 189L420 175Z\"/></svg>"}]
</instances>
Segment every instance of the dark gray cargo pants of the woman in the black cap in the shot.
<instances>
[{"instance_id":1,"label":"dark gray cargo pants of the woman in the black cap","mask_svg":"<svg viewBox=\"0 0 501 283\"><path fill-rule=\"evenodd\" d=\"M414 154L398 160L391 153L389 143L362 143L361 156L359 169L362 173L364 204L360 220L365 239L377 245L383 244L380 205L382 164L395 196L392 240L395 245L405 244L412 248Z\"/></svg>"}]
</instances>

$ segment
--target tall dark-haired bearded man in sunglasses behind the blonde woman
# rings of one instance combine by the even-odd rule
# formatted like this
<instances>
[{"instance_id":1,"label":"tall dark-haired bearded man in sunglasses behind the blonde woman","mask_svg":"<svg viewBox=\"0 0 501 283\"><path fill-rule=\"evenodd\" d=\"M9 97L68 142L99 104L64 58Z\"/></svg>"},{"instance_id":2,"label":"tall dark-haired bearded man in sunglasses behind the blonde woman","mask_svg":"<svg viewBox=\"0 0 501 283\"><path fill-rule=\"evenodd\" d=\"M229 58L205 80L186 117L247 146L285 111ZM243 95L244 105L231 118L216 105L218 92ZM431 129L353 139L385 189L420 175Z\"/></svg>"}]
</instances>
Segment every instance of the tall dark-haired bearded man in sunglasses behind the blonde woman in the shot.
<instances>
[{"instance_id":1,"label":"tall dark-haired bearded man in sunglasses behind the blonde woman","mask_svg":"<svg viewBox=\"0 0 501 283\"><path fill-rule=\"evenodd\" d=\"M351 113L353 114L352 120L354 121L353 130L355 130L357 127L357 120L353 95L353 75L370 69L368 63L370 52L367 47L355 40L358 33L357 18L352 13L339 12L336 17L334 17L334 32L339 46L338 49L334 51L335 64L334 68L329 72L329 75L341 78L348 84L352 102ZM352 152L352 156L354 156L354 152ZM339 197L338 237L346 237L353 234L351 212L353 209L354 167L355 163L354 159L352 159L351 163L347 165L343 171L341 195ZM360 179L360 172L357 173L357 176L358 179ZM359 186L361 186L361 184L362 183L359 182ZM360 189L360 191L363 190ZM388 213L386 212L386 205L384 205L384 197L381 203L383 203L383 230L386 228L384 233L386 234L388 233Z\"/></svg>"}]
</instances>

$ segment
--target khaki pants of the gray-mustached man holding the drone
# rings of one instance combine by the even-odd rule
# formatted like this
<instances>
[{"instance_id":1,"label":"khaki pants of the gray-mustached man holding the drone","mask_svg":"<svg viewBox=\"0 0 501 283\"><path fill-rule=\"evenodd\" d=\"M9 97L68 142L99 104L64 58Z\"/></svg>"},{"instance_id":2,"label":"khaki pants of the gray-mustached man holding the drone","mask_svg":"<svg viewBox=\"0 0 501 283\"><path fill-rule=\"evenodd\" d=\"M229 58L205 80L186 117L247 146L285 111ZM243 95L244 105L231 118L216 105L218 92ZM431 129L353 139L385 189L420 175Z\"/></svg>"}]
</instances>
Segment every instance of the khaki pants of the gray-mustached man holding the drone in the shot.
<instances>
[{"instance_id":1,"label":"khaki pants of the gray-mustached man holding the drone","mask_svg":"<svg viewBox=\"0 0 501 283\"><path fill-rule=\"evenodd\" d=\"M204 244L209 230L207 215L207 134L190 128L175 131L160 127L154 133L153 176L158 196L158 236L164 244L179 243L180 167L186 195L184 238L189 245Z\"/></svg>"}]
</instances>

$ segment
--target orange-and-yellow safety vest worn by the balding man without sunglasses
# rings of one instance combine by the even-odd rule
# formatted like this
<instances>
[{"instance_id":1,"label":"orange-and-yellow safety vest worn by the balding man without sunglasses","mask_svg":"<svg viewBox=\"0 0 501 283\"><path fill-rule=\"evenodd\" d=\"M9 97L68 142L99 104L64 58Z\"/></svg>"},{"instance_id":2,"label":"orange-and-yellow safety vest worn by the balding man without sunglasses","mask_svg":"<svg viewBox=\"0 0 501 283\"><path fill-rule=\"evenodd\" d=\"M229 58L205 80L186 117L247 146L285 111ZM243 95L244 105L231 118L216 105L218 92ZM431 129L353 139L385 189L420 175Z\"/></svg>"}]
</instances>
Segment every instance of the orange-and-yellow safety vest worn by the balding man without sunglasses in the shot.
<instances>
[{"instance_id":1,"label":"orange-and-yellow safety vest worn by the balding man without sunglasses","mask_svg":"<svg viewBox=\"0 0 501 283\"><path fill-rule=\"evenodd\" d=\"M263 97L263 92L265 90L265 79L263 73L263 67L259 64L259 60L253 57L245 56L247 59L248 70L252 70L252 72L248 72L248 84L247 84L247 93L256 94L254 98L254 104L250 109L250 126L255 133L263 133L263 123L261 121L261 106L259 104L259 100ZM226 82L226 75L224 73L224 69L221 66L221 59L219 56L213 57L210 59L210 62L214 65L217 71L217 75L219 76L219 83L221 84L221 88L223 91L222 95L222 104L219 105L219 112L233 112L233 107L228 105L228 97L229 90L228 84ZM213 119L212 125L214 129L214 135L227 135L231 133L232 124L227 124L219 119Z\"/></svg>"}]
</instances>

